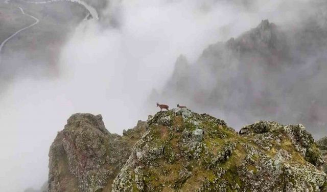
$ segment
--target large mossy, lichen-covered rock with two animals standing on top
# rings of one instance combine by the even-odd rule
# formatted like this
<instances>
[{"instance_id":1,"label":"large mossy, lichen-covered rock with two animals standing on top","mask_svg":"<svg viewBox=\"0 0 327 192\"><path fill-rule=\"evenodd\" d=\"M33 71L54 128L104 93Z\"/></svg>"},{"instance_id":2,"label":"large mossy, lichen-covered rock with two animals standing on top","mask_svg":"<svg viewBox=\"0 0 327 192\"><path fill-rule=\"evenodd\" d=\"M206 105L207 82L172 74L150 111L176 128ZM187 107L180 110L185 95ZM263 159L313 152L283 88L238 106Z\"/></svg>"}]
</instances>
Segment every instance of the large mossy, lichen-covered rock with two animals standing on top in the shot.
<instances>
[{"instance_id":1,"label":"large mossy, lichen-covered rock with two animals standing on top","mask_svg":"<svg viewBox=\"0 0 327 192\"><path fill-rule=\"evenodd\" d=\"M325 191L326 174L302 125L260 121L240 135L188 109L158 112L112 191Z\"/></svg>"}]
</instances>

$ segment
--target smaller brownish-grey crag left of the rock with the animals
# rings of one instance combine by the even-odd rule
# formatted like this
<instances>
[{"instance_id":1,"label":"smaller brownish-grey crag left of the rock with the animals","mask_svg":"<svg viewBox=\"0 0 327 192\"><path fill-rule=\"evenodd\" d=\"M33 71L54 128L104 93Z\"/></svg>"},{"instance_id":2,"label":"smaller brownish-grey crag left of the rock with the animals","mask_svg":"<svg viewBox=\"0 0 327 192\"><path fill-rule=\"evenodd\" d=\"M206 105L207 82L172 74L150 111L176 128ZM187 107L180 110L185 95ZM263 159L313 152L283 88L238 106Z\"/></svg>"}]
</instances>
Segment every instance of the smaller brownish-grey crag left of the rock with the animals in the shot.
<instances>
[{"instance_id":1,"label":"smaller brownish-grey crag left of the rock with the animals","mask_svg":"<svg viewBox=\"0 0 327 192\"><path fill-rule=\"evenodd\" d=\"M139 121L121 137L106 130L101 115L72 115L50 147L49 191L110 191L146 126Z\"/></svg>"}]
</instances>

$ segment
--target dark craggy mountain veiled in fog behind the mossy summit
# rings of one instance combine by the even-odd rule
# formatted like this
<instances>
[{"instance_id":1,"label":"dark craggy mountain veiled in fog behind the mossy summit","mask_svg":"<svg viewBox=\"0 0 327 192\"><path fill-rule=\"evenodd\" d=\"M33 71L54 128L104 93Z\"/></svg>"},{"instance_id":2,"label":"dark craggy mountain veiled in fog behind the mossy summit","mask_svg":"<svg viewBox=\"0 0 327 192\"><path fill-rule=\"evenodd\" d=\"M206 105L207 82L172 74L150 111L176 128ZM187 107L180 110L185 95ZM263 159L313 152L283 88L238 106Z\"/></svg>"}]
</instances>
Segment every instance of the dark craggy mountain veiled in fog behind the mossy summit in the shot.
<instances>
[{"instance_id":1,"label":"dark craggy mountain veiled in fog behind the mossy summit","mask_svg":"<svg viewBox=\"0 0 327 192\"><path fill-rule=\"evenodd\" d=\"M327 6L320 6L292 25L262 20L208 46L193 63L180 56L164 91L148 102L184 103L241 122L301 122L316 135L327 123L327 17L321 11Z\"/></svg>"}]
</instances>

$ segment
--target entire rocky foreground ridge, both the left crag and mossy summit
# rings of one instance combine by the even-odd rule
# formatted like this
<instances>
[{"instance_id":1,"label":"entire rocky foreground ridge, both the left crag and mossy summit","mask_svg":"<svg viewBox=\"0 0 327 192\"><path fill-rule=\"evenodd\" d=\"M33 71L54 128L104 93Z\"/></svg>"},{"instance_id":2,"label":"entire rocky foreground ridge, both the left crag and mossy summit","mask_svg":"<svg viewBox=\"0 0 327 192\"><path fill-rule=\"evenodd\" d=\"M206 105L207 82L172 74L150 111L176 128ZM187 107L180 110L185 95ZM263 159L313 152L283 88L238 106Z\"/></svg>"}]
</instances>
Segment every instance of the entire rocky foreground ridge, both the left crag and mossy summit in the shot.
<instances>
[{"instance_id":1,"label":"entire rocky foreground ridge, both the left crag and mossy summit","mask_svg":"<svg viewBox=\"0 0 327 192\"><path fill-rule=\"evenodd\" d=\"M327 191L324 159L303 125L259 121L237 133L188 109L158 112L123 136L101 115L75 114L49 156L50 192Z\"/></svg>"}]
</instances>

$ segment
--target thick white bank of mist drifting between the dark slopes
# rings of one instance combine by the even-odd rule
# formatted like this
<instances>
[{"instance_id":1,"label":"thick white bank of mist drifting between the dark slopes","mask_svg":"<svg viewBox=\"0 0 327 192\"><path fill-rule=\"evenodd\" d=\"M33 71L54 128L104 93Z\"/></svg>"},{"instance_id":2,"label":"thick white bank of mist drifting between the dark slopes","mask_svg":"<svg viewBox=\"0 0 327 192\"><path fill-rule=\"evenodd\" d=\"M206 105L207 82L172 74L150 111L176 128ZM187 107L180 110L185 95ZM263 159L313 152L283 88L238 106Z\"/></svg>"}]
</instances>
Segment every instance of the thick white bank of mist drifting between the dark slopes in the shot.
<instances>
[{"instance_id":1,"label":"thick white bank of mist drifting between the dark slopes","mask_svg":"<svg viewBox=\"0 0 327 192\"><path fill-rule=\"evenodd\" d=\"M18 75L1 94L2 191L38 188L48 179L49 147L73 113L102 114L109 132L121 134L158 111L144 102L164 86L180 54L194 62L209 44L262 19L296 23L309 1L244 2L111 1L101 16L114 18L114 26L82 22L61 49L58 78Z\"/></svg>"}]
</instances>

